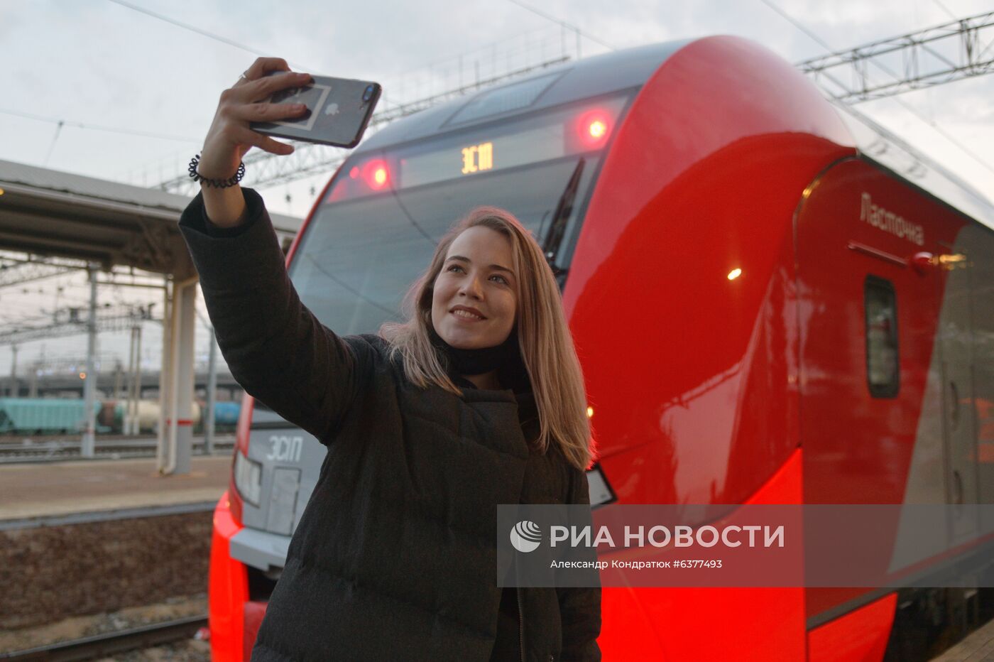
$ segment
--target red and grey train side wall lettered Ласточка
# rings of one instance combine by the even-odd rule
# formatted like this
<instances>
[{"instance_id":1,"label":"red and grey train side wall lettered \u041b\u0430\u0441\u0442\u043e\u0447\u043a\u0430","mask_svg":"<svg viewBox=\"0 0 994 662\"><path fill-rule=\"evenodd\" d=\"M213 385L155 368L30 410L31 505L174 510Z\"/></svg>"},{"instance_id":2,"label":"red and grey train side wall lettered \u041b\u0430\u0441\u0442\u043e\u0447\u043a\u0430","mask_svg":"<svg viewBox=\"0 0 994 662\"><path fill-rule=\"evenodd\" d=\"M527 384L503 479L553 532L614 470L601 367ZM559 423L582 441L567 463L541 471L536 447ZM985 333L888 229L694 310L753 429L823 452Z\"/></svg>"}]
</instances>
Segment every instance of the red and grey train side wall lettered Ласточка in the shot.
<instances>
[{"instance_id":1,"label":"red and grey train side wall lettered \u041b\u0430\u0441\u0442\u043e\u0447\u043a\u0430","mask_svg":"<svg viewBox=\"0 0 994 662\"><path fill-rule=\"evenodd\" d=\"M994 476L975 424L986 387L973 373L987 351L974 338L989 317L977 314L978 297L991 284L977 265L994 258L992 233L857 158L812 184L796 225L805 503L989 502ZM954 527L954 537L974 532L969 522ZM886 535L898 540L901 523ZM964 599L961 590L898 595L808 589L811 659L881 659L876 644L862 657L851 647L889 637L900 645L892 623L909 617L884 617L888 600L910 609Z\"/></svg>"}]
</instances>

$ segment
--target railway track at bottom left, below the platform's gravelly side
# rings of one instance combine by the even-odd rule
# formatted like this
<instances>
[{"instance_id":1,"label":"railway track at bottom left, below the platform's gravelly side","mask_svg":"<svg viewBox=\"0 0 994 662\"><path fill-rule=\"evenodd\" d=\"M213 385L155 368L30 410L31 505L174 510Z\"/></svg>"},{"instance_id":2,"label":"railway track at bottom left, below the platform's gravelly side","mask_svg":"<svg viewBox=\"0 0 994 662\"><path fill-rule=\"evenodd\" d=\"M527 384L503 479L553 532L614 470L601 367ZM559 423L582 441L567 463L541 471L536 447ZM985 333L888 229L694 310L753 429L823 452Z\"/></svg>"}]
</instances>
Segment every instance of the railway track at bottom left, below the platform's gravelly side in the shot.
<instances>
[{"instance_id":1,"label":"railway track at bottom left, below the platform's gravelly side","mask_svg":"<svg viewBox=\"0 0 994 662\"><path fill-rule=\"evenodd\" d=\"M38 648L0 653L0 660L91 660L189 639L202 627L207 627L206 615L188 616Z\"/></svg>"}]
</instances>

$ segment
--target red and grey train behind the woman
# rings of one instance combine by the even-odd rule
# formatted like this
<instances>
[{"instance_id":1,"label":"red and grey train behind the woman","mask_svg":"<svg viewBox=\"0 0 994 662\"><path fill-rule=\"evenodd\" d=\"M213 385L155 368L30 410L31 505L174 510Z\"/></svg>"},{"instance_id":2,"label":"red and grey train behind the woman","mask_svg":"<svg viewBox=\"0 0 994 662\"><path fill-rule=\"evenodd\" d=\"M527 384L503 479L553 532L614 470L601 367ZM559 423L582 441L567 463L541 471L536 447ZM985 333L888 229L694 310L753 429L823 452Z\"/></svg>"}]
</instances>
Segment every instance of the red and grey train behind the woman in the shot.
<instances>
[{"instance_id":1,"label":"red and grey train behind the woman","mask_svg":"<svg viewBox=\"0 0 994 662\"><path fill-rule=\"evenodd\" d=\"M476 205L516 214L560 279L591 496L994 503L994 212L763 48L611 53L391 124L329 182L291 277L329 328L375 332ZM324 453L245 405L215 514L217 660L248 659ZM605 587L599 642L607 660L924 659L991 606L969 587Z\"/></svg>"}]
</instances>

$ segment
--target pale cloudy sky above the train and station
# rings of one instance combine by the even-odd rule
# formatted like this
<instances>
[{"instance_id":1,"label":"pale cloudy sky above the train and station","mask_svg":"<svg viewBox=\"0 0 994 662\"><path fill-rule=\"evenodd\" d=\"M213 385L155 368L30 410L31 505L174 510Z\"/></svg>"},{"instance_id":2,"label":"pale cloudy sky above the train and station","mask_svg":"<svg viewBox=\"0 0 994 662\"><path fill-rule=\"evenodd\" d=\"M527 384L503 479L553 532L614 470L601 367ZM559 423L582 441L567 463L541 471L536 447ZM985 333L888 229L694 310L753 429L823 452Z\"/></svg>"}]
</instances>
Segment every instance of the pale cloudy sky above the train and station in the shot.
<instances>
[{"instance_id":1,"label":"pale cloudy sky above the train and station","mask_svg":"<svg viewBox=\"0 0 994 662\"><path fill-rule=\"evenodd\" d=\"M841 51L992 10L978 0L0 0L0 159L139 186L183 174L221 90L257 53L314 74L380 81L390 103L468 83L476 67L485 75L578 50L586 57L734 34L796 63L826 46ZM991 197L994 76L859 108ZM270 210L302 217L326 178L262 193ZM83 279L0 289L0 329L51 311L59 286L59 305L84 302ZM100 296L138 300L134 291ZM198 338L206 354L206 333ZM154 325L144 345L157 365ZM85 338L25 343L18 372L42 351L83 357ZM101 336L101 354L123 360L126 351L125 337ZM0 346L0 376L10 369L11 350Z\"/></svg>"}]
</instances>

